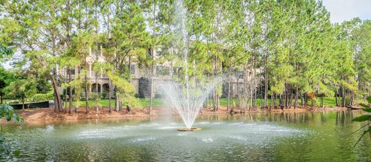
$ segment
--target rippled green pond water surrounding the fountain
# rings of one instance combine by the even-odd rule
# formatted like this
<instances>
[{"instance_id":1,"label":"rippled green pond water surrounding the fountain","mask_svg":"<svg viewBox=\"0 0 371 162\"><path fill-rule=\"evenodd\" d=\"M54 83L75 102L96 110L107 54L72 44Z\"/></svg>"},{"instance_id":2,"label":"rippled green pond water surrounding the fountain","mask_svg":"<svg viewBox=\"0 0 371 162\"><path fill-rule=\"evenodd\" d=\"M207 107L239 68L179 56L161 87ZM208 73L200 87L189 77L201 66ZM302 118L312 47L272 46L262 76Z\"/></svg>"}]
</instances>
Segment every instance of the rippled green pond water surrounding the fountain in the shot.
<instances>
[{"instance_id":1,"label":"rippled green pond water surrounding the fountain","mask_svg":"<svg viewBox=\"0 0 371 162\"><path fill-rule=\"evenodd\" d=\"M0 161L367 161L371 141L353 148L362 111L200 116L201 131L179 132L178 117L2 126L21 156Z\"/></svg>"}]
</instances>

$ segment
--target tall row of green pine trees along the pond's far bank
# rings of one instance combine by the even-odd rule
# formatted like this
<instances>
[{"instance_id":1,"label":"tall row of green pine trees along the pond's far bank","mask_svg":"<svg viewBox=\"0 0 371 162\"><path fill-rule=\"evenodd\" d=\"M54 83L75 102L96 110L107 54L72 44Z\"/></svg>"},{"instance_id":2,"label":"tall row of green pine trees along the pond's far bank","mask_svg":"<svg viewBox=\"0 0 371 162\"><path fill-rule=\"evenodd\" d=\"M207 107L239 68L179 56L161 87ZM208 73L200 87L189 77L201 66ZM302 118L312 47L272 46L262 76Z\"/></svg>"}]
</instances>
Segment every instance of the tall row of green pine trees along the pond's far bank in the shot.
<instances>
[{"instance_id":1,"label":"tall row of green pine trees along the pond's far bank","mask_svg":"<svg viewBox=\"0 0 371 162\"><path fill-rule=\"evenodd\" d=\"M171 75L184 81L184 47L188 76L200 81L227 74L229 100L235 97L231 78L241 73L240 108L256 106L257 87L263 88L263 108L298 106L299 100L308 105L316 96L335 96L338 106L346 106L371 91L371 21L332 24L321 1L1 1L0 10L0 45L14 51L15 69L52 82L56 111L64 111L60 86L78 101L85 91L89 111L90 52L94 71L106 73L112 85L109 111L137 102L132 62L147 69L152 81L154 66L171 62ZM105 62L98 61L100 54ZM76 78L71 72L62 77L61 67L79 67ZM183 68L173 73L173 67ZM218 109L220 97L221 85L206 105Z\"/></svg>"}]
</instances>

